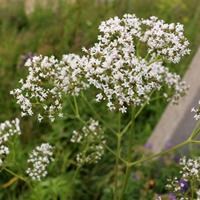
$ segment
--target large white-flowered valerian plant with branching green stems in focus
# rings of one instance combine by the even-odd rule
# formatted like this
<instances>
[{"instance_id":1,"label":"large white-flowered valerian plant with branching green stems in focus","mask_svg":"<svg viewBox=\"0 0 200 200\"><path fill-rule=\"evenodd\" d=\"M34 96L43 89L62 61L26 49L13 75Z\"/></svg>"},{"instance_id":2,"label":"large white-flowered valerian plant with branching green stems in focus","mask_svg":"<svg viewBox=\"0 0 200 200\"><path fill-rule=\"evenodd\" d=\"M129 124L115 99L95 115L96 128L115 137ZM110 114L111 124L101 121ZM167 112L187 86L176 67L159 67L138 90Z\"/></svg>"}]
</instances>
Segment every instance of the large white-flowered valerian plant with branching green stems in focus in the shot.
<instances>
[{"instance_id":1,"label":"large white-flowered valerian plant with branching green stems in focus","mask_svg":"<svg viewBox=\"0 0 200 200\"><path fill-rule=\"evenodd\" d=\"M43 55L29 58L25 63L28 75L19 81L20 86L11 94L21 108L21 117L36 116L39 122L49 119L52 123L66 114L62 111L63 101L66 96L72 97L72 119L83 127L75 130L71 137L79 151L74 156L77 170L87 163L97 163L107 151L112 153L116 159L113 166L114 199L119 200L124 198L133 166L175 150L191 142L198 134L194 131L186 141L160 154L132 160L135 120L143 108L152 102L158 91L163 99L172 100L175 104L186 94L187 84L178 74L171 72L166 63L179 63L190 50L183 25L167 24L157 17L140 19L125 14L122 18L103 21L99 32L97 42L88 49L83 47L82 55L67 54L60 60ZM117 130L108 126L101 113L98 119L96 115L92 116L93 119L84 119L77 98L85 99L85 91L90 90L95 91L93 99L96 102L105 102L108 110L118 116ZM87 103L94 109L91 102ZM129 123L121 124L120 118L128 111L132 113ZM197 112L196 109L194 111ZM106 141L105 129L116 136L114 148ZM122 145L124 138L129 142L128 146ZM5 149L2 155L7 152ZM41 181L47 175L47 165L51 161L53 147L50 144L36 147L27 161L28 176L34 181ZM119 185L121 164L126 170L123 184Z\"/></svg>"}]
</instances>

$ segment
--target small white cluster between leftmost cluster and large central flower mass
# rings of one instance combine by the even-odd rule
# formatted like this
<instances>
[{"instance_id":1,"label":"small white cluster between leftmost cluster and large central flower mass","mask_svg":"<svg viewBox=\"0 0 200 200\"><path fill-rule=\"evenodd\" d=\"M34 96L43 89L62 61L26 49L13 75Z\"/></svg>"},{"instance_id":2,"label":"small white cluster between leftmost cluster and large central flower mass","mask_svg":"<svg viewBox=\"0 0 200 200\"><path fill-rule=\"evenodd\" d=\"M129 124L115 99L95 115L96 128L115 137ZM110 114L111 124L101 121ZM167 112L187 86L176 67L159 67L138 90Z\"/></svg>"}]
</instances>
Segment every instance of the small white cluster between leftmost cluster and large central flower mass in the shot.
<instances>
[{"instance_id":1,"label":"small white cluster between leftmost cluster and large central flower mass","mask_svg":"<svg viewBox=\"0 0 200 200\"><path fill-rule=\"evenodd\" d=\"M66 94L77 96L88 84L84 76L87 59L76 54L63 55L57 73L58 87Z\"/></svg>"}]
</instances>

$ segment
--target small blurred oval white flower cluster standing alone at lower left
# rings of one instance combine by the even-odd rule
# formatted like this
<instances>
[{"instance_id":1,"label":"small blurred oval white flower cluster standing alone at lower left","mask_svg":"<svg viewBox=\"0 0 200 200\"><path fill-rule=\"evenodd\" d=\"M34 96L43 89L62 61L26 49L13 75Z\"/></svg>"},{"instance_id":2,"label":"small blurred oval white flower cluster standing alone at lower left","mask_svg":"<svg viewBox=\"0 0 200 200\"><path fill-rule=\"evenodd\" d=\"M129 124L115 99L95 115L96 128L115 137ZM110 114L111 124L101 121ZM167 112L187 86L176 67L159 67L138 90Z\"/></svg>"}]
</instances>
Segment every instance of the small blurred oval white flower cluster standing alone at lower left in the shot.
<instances>
[{"instance_id":1,"label":"small blurred oval white flower cluster standing alone at lower left","mask_svg":"<svg viewBox=\"0 0 200 200\"><path fill-rule=\"evenodd\" d=\"M40 181L47 175L47 167L53 161L53 147L48 143L37 146L29 155L30 167L26 173L34 181Z\"/></svg>"}]
</instances>

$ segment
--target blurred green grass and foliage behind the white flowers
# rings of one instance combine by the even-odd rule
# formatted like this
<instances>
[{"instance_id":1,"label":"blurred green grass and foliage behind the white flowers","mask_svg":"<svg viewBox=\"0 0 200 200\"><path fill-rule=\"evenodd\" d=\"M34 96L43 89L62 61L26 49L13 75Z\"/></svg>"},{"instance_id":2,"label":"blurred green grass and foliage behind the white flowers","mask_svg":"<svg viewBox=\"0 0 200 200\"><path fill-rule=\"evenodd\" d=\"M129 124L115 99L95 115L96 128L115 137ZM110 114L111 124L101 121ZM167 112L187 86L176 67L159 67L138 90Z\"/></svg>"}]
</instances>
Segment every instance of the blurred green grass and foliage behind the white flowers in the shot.
<instances>
[{"instance_id":1,"label":"blurred green grass and foliage behind the white flowers","mask_svg":"<svg viewBox=\"0 0 200 200\"><path fill-rule=\"evenodd\" d=\"M25 59L33 54L55 55L80 53L81 47L90 47L97 39L98 25L102 20L124 13L135 13L139 17L155 15L167 22L180 22L185 25L185 33L191 43L191 55L179 66L170 65L172 70L184 74L200 43L200 1L199 0L77 0L69 3L58 1L58 6L51 5L37 8L26 15L23 1L0 5L0 121L19 116L19 109L9 91L16 87L19 79L26 74L23 67ZM88 98L90 94L87 95ZM81 113L92 116L86 102L79 102ZM165 108L162 100L156 101L143 111L137 119L135 149L140 154L143 145ZM114 127L115 117L107 115L105 106L95 108L101 115L108 116L108 122ZM65 110L71 112L66 99ZM126 121L127 116L124 117ZM72 184L74 168L70 161L74 149L68 139L76 124L68 117L55 122L38 124L35 119L23 119L23 137L20 144L15 144L15 159L10 166L16 172L23 173L21 168L26 157L26 150L31 149L39 141L56 144L56 161L50 169L50 176L44 182L27 188L23 182L16 182L3 188L2 184L10 180L10 175L0 174L0 199L112 199L112 155L107 155L96 166L88 166L77 175ZM109 133L108 133L109 134ZM112 140L112 138L109 138ZM65 147L63 149L63 147ZM13 155L9 157L13 159ZM163 167L163 164L167 167ZM129 180L127 200L152 199L155 193L165 193L166 174L171 175L176 167L166 158L162 162L146 164L134 169ZM161 167L162 166L162 167ZM160 172L157 169L160 168ZM121 169L122 171L124 169ZM164 175L165 174L165 175Z\"/></svg>"}]
</instances>

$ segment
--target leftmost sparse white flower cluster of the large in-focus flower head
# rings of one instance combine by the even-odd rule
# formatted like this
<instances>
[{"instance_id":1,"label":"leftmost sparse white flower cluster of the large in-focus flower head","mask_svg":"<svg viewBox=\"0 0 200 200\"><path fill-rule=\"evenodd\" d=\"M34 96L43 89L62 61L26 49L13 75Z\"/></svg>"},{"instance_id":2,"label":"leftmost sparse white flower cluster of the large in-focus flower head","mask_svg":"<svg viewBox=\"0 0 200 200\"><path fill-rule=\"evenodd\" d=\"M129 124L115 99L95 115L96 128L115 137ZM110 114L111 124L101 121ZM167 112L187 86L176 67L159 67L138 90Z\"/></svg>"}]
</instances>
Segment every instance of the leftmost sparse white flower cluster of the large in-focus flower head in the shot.
<instances>
[{"instance_id":1,"label":"leftmost sparse white flower cluster of the large in-focus flower head","mask_svg":"<svg viewBox=\"0 0 200 200\"><path fill-rule=\"evenodd\" d=\"M20 80L21 88L11 91L21 107L21 115L32 116L35 108L39 121L44 117L54 121L62 109L61 91L55 84L58 60L53 56L34 56L26 61L25 66L28 76Z\"/></svg>"}]
</instances>

